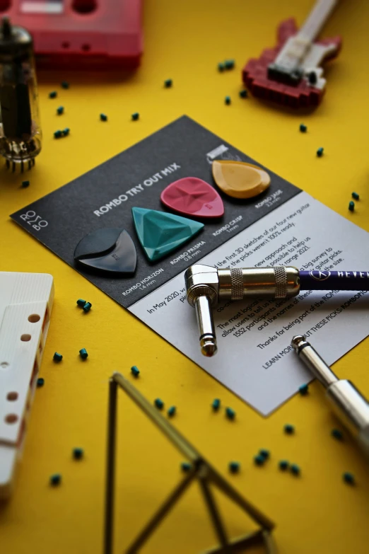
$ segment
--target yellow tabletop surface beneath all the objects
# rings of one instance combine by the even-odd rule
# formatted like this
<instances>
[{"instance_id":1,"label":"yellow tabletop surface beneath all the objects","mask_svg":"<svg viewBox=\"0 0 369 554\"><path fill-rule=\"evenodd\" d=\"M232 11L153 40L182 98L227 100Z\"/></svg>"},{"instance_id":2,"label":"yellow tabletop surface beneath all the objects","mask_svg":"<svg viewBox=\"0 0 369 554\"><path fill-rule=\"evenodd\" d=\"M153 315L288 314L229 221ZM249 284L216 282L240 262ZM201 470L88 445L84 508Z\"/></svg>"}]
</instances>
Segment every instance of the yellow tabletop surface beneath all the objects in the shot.
<instances>
[{"instance_id":1,"label":"yellow tabletop surface beneath all the objects","mask_svg":"<svg viewBox=\"0 0 369 554\"><path fill-rule=\"evenodd\" d=\"M117 370L129 376L133 364L141 369L139 390L151 400L160 396L166 405L177 405L175 426L276 521L280 553L368 552L368 466L351 439L341 443L330 437L337 422L317 383L309 396L297 395L271 417L261 417L8 218L187 114L369 230L369 3L341 2L324 29L327 36L343 35L344 47L327 68L327 94L315 112L298 115L238 97L247 59L274 45L279 21L296 16L301 23L311 6L311 0L146 0L145 53L136 74L120 80L40 74L44 142L27 175L30 187L21 189L20 175L0 170L0 269L51 273L56 296L40 372L45 386L36 391L16 490L0 507L1 554L102 551L107 380ZM219 74L218 62L230 57L236 68ZM163 88L168 78L171 89ZM64 79L71 82L68 91L59 86ZM53 89L58 98L49 100ZM232 97L230 106L223 102L226 95ZM58 105L65 108L61 117ZM140 120L131 122L135 111ZM100 122L100 112L108 122ZM298 130L302 121L307 134ZM60 127L70 127L71 134L55 141L53 132ZM319 146L322 158L315 155ZM354 213L347 209L352 190L361 195ZM88 316L76 308L80 297L93 304ZM82 347L89 353L86 362L78 357ZM61 364L52 362L55 350L64 356ZM366 396L368 353L367 339L334 364L339 376L352 379ZM177 483L182 461L119 394L116 552L127 548ZM235 422L211 412L215 397L235 409ZM286 422L295 425L295 436L283 434ZM72 460L74 446L85 449L83 461ZM271 450L271 461L258 468L252 457L262 447ZM279 471L281 458L300 465L300 478ZM242 463L239 475L228 474L233 459ZM344 471L356 476L356 487L342 482ZM49 475L55 472L63 482L52 488ZM247 531L244 514L226 502L221 507L230 533ZM214 543L194 486L142 551L188 554Z\"/></svg>"}]
</instances>

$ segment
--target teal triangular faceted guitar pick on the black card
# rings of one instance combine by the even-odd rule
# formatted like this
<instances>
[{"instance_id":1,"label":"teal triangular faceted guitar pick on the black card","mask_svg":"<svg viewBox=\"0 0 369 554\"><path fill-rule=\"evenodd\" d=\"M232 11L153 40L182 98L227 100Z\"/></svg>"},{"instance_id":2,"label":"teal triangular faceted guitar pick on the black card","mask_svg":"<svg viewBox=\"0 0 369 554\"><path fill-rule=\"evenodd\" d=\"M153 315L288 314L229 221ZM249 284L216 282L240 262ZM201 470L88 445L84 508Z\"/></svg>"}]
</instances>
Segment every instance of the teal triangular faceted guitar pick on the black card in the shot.
<instances>
[{"instance_id":1,"label":"teal triangular faceted guitar pick on the black card","mask_svg":"<svg viewBox=\"0 0 369 554\"><path fill-rule=\"evenodd\" d=\"M152 262L196 235L204 224L155 209L132 208L134 225L145 253Z\"/></svg>"}]
</instances>

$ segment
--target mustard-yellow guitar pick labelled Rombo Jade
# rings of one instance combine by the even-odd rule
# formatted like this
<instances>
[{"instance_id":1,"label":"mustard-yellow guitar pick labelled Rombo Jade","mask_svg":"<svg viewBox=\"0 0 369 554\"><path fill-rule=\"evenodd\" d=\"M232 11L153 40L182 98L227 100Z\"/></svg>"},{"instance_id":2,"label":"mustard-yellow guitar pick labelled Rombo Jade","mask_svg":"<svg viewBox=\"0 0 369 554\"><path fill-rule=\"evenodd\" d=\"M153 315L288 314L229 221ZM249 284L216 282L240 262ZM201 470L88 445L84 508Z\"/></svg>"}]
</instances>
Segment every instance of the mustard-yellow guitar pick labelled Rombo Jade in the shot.
<instances>
[{"instance_id":1,"label":"mustard-yellow guitar pick labelled Rombo Jade","mask_svg":"<svg viewBox=\"0 0 369 554\"><path fill-rule=\"evenodd\" d=\"M270 185L268 173L252 163L214 160L212 169L218 187L233 198L252 198L264 192Z\"/></svg>"}]
</instances>

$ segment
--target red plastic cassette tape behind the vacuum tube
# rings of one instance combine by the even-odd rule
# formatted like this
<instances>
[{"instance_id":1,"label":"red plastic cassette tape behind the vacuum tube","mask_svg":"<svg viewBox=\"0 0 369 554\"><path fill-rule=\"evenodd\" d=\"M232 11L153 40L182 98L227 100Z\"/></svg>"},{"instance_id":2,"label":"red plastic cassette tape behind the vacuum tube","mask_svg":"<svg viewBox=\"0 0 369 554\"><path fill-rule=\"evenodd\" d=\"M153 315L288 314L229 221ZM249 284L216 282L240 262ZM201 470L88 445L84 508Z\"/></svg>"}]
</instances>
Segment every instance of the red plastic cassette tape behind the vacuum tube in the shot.
<instances>
[{"instance_id":1,"label":"red plastic cassette tape behind the vacuum tube","mask_svg":"<svg viewBox=\"0 0 369 554\"><path fill-rule=\"evenodd\" d=\"M27 29L37 67L133 69L142 53L142 0L0 0Z\"/></svg>"}]
</instances>

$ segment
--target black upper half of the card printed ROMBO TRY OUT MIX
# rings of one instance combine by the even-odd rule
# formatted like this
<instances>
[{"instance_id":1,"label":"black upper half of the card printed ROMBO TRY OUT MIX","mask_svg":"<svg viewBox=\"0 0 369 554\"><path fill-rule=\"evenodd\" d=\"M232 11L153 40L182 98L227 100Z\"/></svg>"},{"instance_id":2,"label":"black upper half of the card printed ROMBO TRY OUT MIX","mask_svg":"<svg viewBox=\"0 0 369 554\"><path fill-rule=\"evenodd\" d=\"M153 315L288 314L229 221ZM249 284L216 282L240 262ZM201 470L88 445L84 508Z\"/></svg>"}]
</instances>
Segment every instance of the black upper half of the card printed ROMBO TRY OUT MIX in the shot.
<instances>
[{"instance_id":1,"label":"black upper half of the card printed ROMBO TRY OUT MIX","mask_svg":"<svg viewBox=\"0 0 369 554\"><path fill-rule=\"evenodd\" d=\"M213 159L257 163L183 116L11 217L128 308L300 192L264 168L271 176L271 185L262 195L236 200L220 192L225 209L221 219L202 221L204 229L191 241L166 258L148 262L136 236L131 208L168 211L160 202L160 193L180 178L197 177L216 187L211 174ZM76 266L77 243L87 233L107 227L123 227L131 235L137 250L134 275L105 277Z\"/></svg>"}]
</instances>

